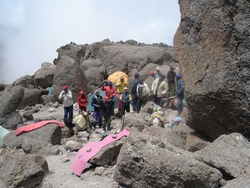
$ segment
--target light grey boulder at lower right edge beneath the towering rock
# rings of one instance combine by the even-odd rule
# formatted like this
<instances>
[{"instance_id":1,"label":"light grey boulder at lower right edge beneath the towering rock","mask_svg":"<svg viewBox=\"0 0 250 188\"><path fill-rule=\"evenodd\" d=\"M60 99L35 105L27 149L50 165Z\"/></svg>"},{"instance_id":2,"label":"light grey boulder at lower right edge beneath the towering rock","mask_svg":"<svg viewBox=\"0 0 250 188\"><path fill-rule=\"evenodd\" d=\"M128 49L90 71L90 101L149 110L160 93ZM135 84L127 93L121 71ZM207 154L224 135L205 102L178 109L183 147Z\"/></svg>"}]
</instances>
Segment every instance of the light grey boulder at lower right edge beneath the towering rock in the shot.
<instances>
[{"instance_id":1,"label":"light grey boulder at lower right edge beneath the towering rock","mask_svg":"<svg viewBox=\"0 0 250 188\"><path fill-rule=\"evenodd\" d=\"M250 177L250 143L239 133L221 135L213 143L195 152L194 157L220 169L224 179Z\"/></svg>"}]
</instances>

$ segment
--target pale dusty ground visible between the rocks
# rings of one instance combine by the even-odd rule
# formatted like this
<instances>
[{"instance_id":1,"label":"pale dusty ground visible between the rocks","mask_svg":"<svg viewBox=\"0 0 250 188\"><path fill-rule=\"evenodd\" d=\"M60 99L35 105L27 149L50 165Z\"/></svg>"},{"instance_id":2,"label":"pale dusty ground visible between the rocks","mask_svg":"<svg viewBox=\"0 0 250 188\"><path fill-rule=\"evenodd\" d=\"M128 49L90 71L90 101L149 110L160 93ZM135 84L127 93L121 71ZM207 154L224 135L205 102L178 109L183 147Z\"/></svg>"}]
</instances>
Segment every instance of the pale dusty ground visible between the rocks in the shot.
<instances>
[{"instance_id":1,"label":"pale dusty ground visible between the rocks","mask_svg":"<svg viewBox=\"0 0 250 188\"><path fill-rule=\"evenodd\" d=\"M74 115L77 114L78 110L75 109ZM168 111L168 114L165 115L170 122L176 114L177 111L170 110ZM33 114L34 118L51 116L60 118L62 115L62 105L55 108L54 112L49 112L48 108L44 108L44 110ZM121 127L121 119L112 120L111 127L113 127L113 129L109 133L113 134ZM102 133L103 130L101 128L97 128L92 132L89 142L99 141ZM70 166L75 159L76 152L66 151L63 145L60 145L59 148L61 151L59 155L44 156L48 162L49 173L46 174L43 180L42 188L122 188L122 186L119 186L113 179L115 166L97 168L89 167L86 168L86 170L79 177L70 169ZM88 165L91 166L90 164Z\"/></svg>"}]
</instances>

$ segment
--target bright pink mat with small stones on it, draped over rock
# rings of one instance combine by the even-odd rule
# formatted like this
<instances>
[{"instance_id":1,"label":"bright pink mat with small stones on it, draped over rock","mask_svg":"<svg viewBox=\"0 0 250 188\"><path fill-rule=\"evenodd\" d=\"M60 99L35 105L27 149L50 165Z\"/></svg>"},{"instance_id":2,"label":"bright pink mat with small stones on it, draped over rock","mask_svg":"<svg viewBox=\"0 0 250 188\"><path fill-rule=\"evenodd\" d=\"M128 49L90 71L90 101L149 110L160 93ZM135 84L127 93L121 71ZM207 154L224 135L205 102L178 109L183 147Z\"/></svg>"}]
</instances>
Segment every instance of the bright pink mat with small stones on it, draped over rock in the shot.
<instances>
[{"instance_id":1,"label":"bright pink mat with small stones on it, draped over rock","mask_svg":"<svg viewBox=\"0 0 250 188\"><path fill-rule=\"evenodd\" d=\"M121 131L119 134L116 135L116 138L113 138L112 135L108 135L100 142L91 142L87 144L86 146L84 146L77 152L76 158L71 166L71 170L76 175L80 176L87 162L89 161L89 159L94 157L104 146L116 140L119 140L123 136L128 136L129 134L130 134L130 131L127 129L124 129L123 131ZM91 148L91 151L88 152L87 149L89 148Z\"/></svg>"}]
</instances>

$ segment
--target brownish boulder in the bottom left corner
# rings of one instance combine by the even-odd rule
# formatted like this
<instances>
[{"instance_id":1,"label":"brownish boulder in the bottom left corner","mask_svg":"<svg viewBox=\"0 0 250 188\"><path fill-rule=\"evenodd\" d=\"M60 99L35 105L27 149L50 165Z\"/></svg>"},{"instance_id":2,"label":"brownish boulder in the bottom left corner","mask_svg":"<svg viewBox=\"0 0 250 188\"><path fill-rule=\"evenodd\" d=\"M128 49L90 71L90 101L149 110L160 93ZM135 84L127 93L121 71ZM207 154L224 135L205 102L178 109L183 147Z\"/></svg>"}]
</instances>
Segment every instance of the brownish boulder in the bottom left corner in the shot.
<instances>
[{"instance_id":1,"label":"brownish boulder in the bottom left corner","mask_svg":"<svg viewBox=\"0 0 250 188\"><path fill-rule=\"evenodd\" d=\"M46 159L39 155L4 154L0 165L1 187L39 187L49 171Z\"/></svg>"}]
</instances>

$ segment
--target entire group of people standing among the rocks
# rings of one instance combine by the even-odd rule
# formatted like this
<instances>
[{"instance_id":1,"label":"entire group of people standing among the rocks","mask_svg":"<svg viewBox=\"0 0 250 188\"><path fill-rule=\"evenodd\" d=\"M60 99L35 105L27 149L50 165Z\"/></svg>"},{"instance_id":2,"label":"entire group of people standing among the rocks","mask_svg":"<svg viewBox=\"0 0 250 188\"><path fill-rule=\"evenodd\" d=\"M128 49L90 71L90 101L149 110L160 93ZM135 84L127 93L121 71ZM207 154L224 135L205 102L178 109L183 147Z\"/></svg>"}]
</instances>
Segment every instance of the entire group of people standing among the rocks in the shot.
<instances>
[{"instance_id":1,"label":"entire group of people standing among the rocks","mask_svg":"<svg viewBox=\"0 0 250 188\"><path fill-rule=\"evenodd\" d=\"M144 80L140 78L138 73L134 75L133 85L131 91L128 91L128 82L124 77L120 77L120 80L113 83L108 80L102 82L101 88L95 90L91 97L91 106L94 108L93 117L98 122L98 126L102 127L105 131L110 130L111 118L114 115L114 97L118 98L118 112L121 116L125 112L130 112L130 104L134 112L139 113L141 108L146 104L148 96L152 91L152 99L158 106L162 105L163 97L174 96L177 98L177 110L180 115L183 111L182 101L184 99L184 85L181 80L180 73L176 74L174 67L170 67L170 71L166 76L161 73L160 68L157 67L156 71L151 71L150 75L154 78L151 90L148 85L144 83ZM176 83L177 82L177 87ZM105 96L100 95L100 90L105 91ZM64 105L64 119L73 119L73 97L72 92L68 86L63 86L63 91L58 96L59 99L63 99ZM88 98L84 91L80 91L77 97L77 104L81 111L87 111ZM93 126L95 129L96 126Z\"/></svg>"}]
</instances>

